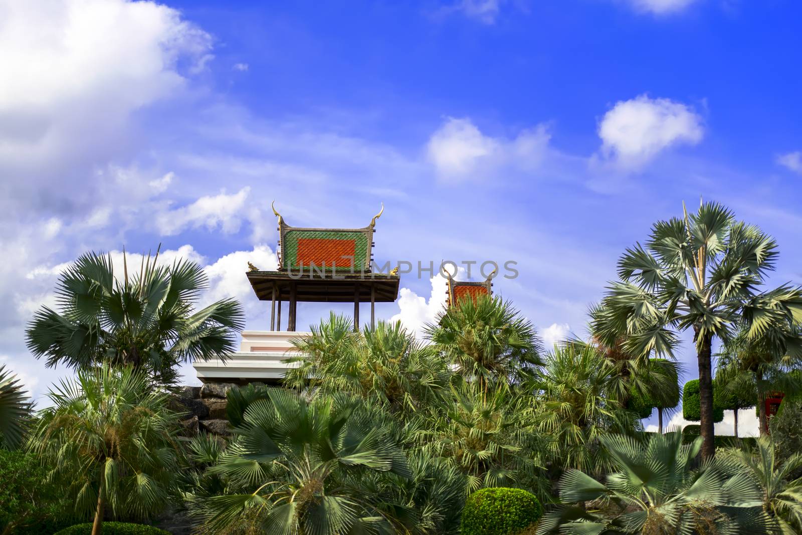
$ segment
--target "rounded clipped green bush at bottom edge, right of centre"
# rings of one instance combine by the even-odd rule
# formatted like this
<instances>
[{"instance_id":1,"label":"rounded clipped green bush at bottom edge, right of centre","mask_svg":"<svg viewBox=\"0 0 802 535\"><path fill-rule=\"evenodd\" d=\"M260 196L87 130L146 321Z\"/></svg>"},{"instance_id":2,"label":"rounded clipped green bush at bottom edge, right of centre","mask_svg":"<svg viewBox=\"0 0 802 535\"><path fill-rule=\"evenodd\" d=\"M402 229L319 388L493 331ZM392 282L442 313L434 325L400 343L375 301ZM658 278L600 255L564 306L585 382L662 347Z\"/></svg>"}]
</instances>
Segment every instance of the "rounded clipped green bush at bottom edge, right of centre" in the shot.
<instances>
[{"instance_id":1,"label":"rounded clipped green bush at bottom edge, right of centre","mask_svg":"<svg viewBox=\"0 0 802 535\"><path fill-rule=\"evenodd\" d=\"M512 535L543 515L543 506L520 488L482 488L468 496L462 535Z\"/></svg>"}]
</instances>

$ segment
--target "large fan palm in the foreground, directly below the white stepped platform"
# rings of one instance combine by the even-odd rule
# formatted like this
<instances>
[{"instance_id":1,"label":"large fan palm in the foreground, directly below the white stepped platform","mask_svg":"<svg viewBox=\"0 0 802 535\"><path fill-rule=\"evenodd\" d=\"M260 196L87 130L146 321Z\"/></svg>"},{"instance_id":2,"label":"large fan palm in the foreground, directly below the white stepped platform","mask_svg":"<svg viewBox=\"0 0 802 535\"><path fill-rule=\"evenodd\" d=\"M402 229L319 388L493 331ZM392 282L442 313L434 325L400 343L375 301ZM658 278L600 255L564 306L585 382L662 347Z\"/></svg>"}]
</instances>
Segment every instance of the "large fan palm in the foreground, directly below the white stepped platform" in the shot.
<instances>
[{"instance_id":1,"label":"large fan palm in the foreground, directly below the white stepped platform","mask_svg":"<svg viewBox=\"0 0 802 535\"><path fill-rule=\"evenodd\" d=\"M307 400L273 388L243 419L233 444L210 468L225 476L233 491L205 502L210 530L393 532L395 505L363 492L362 481L411 472L399 444L362 400L343 394Z\"/></svg>"}]
</instances>

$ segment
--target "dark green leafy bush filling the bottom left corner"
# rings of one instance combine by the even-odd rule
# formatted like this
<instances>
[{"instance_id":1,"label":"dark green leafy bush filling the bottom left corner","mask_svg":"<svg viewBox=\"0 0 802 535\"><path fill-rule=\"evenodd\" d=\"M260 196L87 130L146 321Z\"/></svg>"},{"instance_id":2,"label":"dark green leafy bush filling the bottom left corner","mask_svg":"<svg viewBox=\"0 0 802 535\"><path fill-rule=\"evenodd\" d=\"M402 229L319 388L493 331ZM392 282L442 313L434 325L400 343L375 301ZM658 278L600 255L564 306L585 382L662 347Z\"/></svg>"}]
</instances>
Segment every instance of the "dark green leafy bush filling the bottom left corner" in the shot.
<instances>
[{"instance_id":1,"label":"dark green leafy bush filling the bottom left corner","mask_svg":"<svg viewBox=\"0 0 802 535\"><path fill-rule=\"evenodd\" d=\"M0 449L0 533L41 528L67 516L62 489L47 480L47 468L30 453Z\"/></svg>"}]
</instances>

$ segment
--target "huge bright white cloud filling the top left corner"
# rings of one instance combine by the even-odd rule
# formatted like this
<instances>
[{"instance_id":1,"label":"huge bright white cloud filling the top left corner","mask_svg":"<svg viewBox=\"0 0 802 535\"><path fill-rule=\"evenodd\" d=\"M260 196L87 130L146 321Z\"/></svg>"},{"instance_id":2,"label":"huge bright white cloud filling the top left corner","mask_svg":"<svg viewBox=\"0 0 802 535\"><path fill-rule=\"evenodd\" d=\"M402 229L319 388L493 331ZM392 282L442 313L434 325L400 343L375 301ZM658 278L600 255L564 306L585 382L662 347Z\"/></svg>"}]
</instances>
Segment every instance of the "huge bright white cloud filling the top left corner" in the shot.
<instances>
[{"instance_id":1,"label":"huge bright white cloud filling the top left corner","mask_svg":"<svg viewBox=\"0 0 802 535\"><path fill-rule=\"evenodd\" d=\"M76 177L91 189L88 168L131 149L132 113L184 91L181 66L212 43L156 2L0 0L0 13L0 203L10 210L23 197L82 198Z\"/></svg>"}]
</instances>

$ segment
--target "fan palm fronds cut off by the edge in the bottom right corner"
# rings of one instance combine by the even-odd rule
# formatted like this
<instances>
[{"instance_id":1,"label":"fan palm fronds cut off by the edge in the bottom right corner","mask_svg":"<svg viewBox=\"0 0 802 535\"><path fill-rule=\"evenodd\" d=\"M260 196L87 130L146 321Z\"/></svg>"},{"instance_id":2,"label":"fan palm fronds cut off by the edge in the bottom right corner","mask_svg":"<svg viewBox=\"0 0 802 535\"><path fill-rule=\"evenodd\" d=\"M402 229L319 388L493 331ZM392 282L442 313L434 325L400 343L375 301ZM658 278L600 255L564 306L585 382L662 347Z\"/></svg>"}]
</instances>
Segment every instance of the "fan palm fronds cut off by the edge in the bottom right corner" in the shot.
<instances>
[{"instance_id":1,"label":"fan palm fronds cut off by the edge in the bottom right corner","mask_svg":"<svg viewBox=\"0 0 802 535\"><path fill-rule=\"evenodd\" d=\"M754 452L735 450L732 456L737 461L733 471L745 468L758 485L770 532L802 533L802 479L792 480L792 474L802 467L802 453L780 463L772 440L761 436Z\"/></svg>"}]
</instances>

